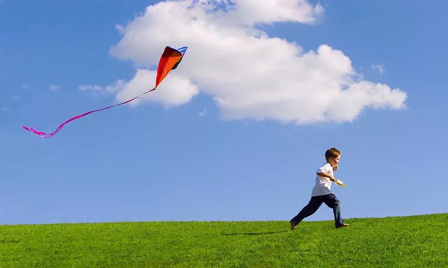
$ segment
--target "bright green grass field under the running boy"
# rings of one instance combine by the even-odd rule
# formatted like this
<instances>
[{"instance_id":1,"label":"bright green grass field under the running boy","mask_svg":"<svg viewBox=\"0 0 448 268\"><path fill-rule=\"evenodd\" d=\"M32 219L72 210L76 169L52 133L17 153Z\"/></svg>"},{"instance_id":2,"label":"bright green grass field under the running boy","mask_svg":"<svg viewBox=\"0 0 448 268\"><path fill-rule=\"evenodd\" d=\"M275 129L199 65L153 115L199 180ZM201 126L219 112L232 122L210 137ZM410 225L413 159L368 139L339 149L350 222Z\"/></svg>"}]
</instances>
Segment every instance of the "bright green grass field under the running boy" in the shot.
<instances>
[{"instance_id":1,"label":"bright green grass field under the running boy","mask_svg":"<svg viewBox=\"0 0 448 268\"><path fill-rule=\"evenodd\" d=\"M0 226L0 267L448 267L448 213Z\"/></svg>"}]
</instances>

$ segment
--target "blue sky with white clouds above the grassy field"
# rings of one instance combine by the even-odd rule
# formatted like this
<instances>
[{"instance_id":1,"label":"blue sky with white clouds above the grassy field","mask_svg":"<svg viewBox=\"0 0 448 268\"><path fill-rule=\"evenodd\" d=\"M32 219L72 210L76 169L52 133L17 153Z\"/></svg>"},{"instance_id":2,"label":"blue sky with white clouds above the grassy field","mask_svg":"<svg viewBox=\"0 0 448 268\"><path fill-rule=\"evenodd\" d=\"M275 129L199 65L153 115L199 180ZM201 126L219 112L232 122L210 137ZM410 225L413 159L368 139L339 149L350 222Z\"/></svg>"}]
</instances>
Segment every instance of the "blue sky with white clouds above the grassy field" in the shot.
<instances>
[{"instance_id":1,"label":"blue sky with white clouds above the grassy field","mask_svg":"<svg viewBox=\"0 0 448 268\"><path fill-rule=\"evenodd\" d=\"M1 0L0 224L448 212L448 3L250 2Z\"/></svg>"}]
</instances>

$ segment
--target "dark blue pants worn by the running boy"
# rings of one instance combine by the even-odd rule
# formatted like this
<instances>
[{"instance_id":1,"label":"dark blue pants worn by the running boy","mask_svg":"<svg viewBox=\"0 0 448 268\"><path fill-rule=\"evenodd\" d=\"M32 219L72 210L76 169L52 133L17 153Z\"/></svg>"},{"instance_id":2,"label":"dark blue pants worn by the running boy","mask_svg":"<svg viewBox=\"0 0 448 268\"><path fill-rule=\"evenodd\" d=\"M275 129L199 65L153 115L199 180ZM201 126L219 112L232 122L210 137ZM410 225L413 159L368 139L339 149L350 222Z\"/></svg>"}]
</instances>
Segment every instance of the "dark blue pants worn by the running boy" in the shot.
<instances>
[{"instance_id":1,"label":"dark blue pants worn by the running boy","mask_svg":"<svg viewBox=\"0 0 448 268\"><path fill-rule=\"evenodd\" d=\"M336 195L333 193L311 196L311 200L302 210L297 214L294 218L292 218L289 222L294 225L299 224L303 219L308 216L313 215L314 212L318 210L318 208L325 203L328 207L333 208L333 214L335 214L335 226L336 228L341 227L344 224L344 221L340 217L340 202L337 199Z\"/></svg>"}]
</instances>

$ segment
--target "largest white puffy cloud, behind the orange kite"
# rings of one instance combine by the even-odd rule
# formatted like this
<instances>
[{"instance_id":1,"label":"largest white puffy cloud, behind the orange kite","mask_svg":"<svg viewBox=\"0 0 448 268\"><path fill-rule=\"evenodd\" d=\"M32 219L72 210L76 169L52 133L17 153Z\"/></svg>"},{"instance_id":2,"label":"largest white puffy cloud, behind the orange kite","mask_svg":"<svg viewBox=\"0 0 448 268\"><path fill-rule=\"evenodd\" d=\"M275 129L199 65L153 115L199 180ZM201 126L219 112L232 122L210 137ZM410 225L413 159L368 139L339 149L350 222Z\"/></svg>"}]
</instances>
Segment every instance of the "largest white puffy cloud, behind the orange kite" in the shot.
<instances>
[{"instance_id":1,"label":"largest white puffy cloud, behind the orange kite","mask_svg":"<svg viewBox=\"0 0 448 268\"><path fill-rule=\"evenodd\" d=\"M159 2L129 24L116 26L122 39L110 53L153 68L166 45L189 46L180 67L154 94L133 105L180 105L201 91L215 99L224 118L298 124L352 121L365 108L405 107L404 91L362 80L343 52L326 44L303 51L256 27L277 21L314 23L323 12L320 4L305 0ZM154 71L138 70L116 99L146 91L154 78Z\"/></svg>"}]
</instances>

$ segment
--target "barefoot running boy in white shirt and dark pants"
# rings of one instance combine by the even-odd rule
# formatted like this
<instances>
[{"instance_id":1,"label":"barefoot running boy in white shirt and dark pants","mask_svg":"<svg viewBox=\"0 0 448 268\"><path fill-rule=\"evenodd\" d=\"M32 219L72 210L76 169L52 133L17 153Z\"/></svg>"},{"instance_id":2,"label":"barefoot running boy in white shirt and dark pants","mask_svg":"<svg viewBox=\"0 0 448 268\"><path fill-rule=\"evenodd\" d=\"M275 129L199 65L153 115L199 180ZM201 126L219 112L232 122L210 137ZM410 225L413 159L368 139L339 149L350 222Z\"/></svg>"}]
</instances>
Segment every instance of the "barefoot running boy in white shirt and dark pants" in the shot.
<instances>
[{"instance_id":1,"label":"barefoot running boy in white shirt and dark pants","mask_svg":"<svg viewBox=\"0 0 448 268\"><path fill-rule=\"evenodd\" d=\"M348 226L348 224L344 223L340 217L340 202L336 195L330 190L332 181L336 181L333 172L337 170L340 152L336 148L330 148L325 152L325 159L327 159L327 163L316 172L316 185L314 185L313 191L311 192L310 202L299 212L299 214L297 214L297 216L289 221L291 223L291 230L294 230L296 225L304 218L311 216L316 212L322 203L333 208L336 228Z\"/></svg>"}]
</instances>

